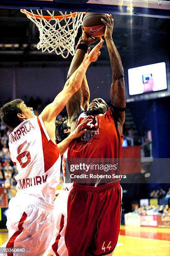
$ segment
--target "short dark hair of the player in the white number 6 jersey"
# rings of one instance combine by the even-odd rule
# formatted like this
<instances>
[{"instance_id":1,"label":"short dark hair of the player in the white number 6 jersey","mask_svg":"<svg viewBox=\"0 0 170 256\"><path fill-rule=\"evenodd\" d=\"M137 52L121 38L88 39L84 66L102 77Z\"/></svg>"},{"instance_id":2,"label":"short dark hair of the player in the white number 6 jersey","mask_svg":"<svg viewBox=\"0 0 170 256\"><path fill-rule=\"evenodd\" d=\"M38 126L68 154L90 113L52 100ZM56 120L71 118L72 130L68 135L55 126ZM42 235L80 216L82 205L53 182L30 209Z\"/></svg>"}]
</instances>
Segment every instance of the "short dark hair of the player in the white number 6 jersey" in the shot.
<instances>
[{"instance_id":1,"label":"short dark hair of the player in the white number 6 jersey","mask_svg":"<svg viewBox=\"0 0 170 256\"><path fill-rule=\"evenodd\" d=\"M17 114L22 113L22 109L20 107L22 102L23 100L21 99L12 100L0 108L0 118L10 129L14 129L20 124Z\"/></svg>"}]
</instances>

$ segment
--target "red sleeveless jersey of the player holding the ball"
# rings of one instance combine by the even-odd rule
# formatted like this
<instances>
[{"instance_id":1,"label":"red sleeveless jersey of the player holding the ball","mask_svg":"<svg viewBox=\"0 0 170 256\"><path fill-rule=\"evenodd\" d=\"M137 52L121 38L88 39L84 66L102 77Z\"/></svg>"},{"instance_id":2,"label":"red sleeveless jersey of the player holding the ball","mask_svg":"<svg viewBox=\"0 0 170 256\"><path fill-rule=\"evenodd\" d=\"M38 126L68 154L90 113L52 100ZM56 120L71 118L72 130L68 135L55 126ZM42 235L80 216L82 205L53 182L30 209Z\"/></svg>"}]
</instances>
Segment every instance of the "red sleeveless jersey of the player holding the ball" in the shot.
<instances>
[{"instance_id":1,"label":"red sleeveless jersey of the player holding the ball","mask_svg":"<svg viewBox=\"0 0 170 256\"><path fill-rule=\"evenodd\" d=\"M86 116L85 111L81 112L76 126ZM70 143L68 159L103 159L103 163L107 162L104 159L121 159L123 136L120 135L112 110L109 108L105 114L90 118L92 120L86 125L86 133ZM120 174L120 168L115 174Z\"/></svg>"}]
</instances>

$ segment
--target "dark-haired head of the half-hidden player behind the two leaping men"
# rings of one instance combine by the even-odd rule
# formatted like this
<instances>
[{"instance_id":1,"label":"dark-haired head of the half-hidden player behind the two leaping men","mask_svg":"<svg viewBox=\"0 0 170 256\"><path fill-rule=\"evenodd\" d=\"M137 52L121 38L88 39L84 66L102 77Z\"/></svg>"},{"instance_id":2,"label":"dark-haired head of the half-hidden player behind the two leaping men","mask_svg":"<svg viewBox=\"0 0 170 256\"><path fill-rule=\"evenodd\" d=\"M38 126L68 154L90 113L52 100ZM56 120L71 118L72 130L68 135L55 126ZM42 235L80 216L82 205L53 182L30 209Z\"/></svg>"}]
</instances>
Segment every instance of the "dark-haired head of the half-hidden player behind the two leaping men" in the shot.
<instances>
[{"instance_id":1,"label":"dark-haired head of the half-hidden player behind the two leaping men","mask_svg":"<svg viewBox=\"0 0 170 256\"><path fill-rule=\"evenodd\" d=\"M63 141L70 134L70 123L67 117L56 120L56 140L57 142Z\"/></svg>"}]
</instances>

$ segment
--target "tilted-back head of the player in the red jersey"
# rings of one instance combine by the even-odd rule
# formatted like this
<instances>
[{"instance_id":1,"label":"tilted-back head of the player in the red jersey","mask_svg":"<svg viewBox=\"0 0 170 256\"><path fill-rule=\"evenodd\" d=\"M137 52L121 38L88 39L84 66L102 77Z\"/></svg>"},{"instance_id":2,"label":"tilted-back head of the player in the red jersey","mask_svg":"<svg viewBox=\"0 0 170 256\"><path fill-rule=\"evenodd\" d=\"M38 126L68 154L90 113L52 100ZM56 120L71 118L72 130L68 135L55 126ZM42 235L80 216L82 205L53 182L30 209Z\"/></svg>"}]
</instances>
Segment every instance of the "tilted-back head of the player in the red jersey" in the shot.
<instances>
[{"instance_id":1,"label":"tilted-back head of the player in the red jersey","mask_svg":"<svg viewBox=\"0 0 170 256\"><path fill-rule=\"evenodd\" d=\"M108 105L107 103L101 99L101 98L96 98L92 100L89 104L89 108L87 110L88 115L99 115L99 114L104 114L108 110Z\"/></svg>"}]
</instances>

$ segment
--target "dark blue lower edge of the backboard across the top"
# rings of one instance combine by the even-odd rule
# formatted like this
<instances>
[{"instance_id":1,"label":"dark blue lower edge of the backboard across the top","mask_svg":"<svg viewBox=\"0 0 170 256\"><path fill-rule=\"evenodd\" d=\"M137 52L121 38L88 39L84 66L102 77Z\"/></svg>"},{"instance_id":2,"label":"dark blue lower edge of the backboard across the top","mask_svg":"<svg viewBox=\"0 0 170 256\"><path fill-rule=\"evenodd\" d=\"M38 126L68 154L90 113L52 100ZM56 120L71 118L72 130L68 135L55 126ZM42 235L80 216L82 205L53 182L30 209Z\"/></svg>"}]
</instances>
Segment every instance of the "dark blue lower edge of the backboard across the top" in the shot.
<instances>
[{"instance_id":1,"label":"dark blue lower edge of the backboard across the top","mask_svg":"<svg viewBox=\"0 0 170 256\"><path fill-rule=\"evenodd\" d=\"M84 12L170 18L169 0L3 0L0 1L0 8L79 10Z\"/></svg>"}]
</instances>

